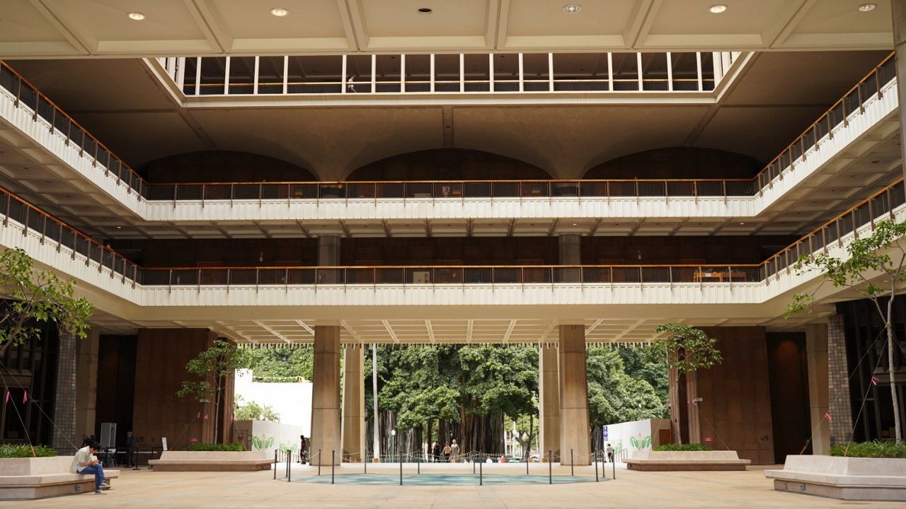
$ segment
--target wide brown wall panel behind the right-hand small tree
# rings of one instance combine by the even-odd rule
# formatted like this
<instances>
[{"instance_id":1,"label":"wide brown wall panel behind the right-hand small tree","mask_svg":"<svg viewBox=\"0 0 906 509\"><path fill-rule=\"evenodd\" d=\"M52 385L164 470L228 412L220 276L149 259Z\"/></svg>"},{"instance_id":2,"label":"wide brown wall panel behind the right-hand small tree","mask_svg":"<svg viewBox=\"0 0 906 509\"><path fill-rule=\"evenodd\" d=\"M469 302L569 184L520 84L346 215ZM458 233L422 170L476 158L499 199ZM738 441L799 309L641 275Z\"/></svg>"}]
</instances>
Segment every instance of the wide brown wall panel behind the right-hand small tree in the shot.
<instances>
[{"instance_id":1,"label":"wide brown wall panel behind the right-hand small tree","mask_svg":"<svg viewBox=\"0 0 906 509\"><path fill-rule=\"evenodd\" d=\"M724 361L697 373L700 441L715 449L736 450L756 465L774 464L765 329L703 330L718 339Z\"/></svg>"}]
</instances>

